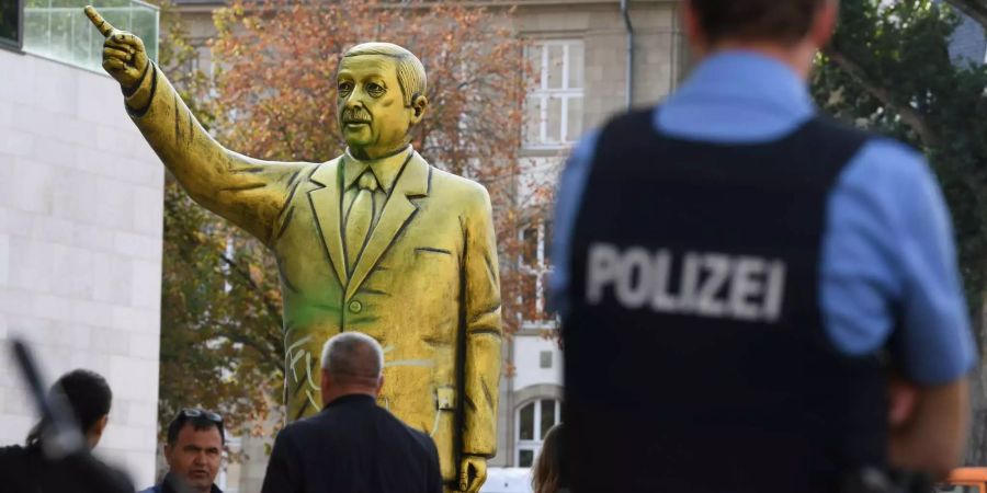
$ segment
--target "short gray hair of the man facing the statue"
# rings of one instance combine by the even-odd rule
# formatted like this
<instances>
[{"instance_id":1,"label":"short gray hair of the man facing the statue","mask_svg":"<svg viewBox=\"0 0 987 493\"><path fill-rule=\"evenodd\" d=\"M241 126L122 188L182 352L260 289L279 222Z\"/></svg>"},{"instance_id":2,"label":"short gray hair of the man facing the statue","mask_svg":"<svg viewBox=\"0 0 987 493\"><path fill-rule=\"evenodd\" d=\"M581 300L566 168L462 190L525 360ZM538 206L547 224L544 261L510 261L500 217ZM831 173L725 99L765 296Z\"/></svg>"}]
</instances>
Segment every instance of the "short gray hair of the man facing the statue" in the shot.
<instances>
[{"instance_id":1,"label":"short gray hair of the man facing the statue","mask_svg":"<svg viewBox=\"0 0 987 493\"><path fill-rule=\"evenodd\" d=\"M343 332L322 346L322 369L340 380L376 380L384 369L384 349L370 335Z\"/></svg>"}]
</instances>

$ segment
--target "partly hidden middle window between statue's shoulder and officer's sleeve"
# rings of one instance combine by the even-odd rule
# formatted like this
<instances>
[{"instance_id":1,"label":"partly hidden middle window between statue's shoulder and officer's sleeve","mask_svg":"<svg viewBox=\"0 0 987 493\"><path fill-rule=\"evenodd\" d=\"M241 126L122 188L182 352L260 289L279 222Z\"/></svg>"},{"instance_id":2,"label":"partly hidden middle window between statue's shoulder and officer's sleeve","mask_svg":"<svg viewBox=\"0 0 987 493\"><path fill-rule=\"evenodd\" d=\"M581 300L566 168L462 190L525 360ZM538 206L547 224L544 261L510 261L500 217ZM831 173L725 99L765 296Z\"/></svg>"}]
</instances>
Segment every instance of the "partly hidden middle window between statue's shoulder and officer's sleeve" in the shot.
<instances>
[{"instance_id":1,"label":"partly hidden middle window between statue's shoulder and officer's sleeve","mask_svg":"<svg viewBox=\"0 0 987 493\"><path fill-rule=\"evenodd\" d=\"M548 249L552 245L552 221L538 221L521 230L521 303L524 321L552 320L547 312Z\"/></svg>"}]
</instances>

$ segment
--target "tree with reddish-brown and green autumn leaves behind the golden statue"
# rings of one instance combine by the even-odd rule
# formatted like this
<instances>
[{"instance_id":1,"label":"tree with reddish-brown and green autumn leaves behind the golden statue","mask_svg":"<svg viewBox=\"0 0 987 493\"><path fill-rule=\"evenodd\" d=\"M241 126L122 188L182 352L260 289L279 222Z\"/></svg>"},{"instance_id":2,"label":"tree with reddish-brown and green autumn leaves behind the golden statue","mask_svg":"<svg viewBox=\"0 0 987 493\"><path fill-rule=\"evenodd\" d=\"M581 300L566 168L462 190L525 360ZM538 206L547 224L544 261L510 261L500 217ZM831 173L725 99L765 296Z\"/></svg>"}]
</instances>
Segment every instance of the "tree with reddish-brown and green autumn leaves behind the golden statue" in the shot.
<instances>
[{"instance_id":1,"label":"tree with reddish-brown and green autumn leaves behind the golden statue","mask_svg":"<svg viewBox=\"0 0 987 493\"><path fill-rule=\"evenodd\" d=\"M490 192L510 333L535 309L521 296L520 213L547 193L518 194L527 67L511 14L453 2L238 0L214 14L212 85L182 72L189 50L162 65L172 79L184 78L177 84L183 98L227 148L322 162L344 149L336 119L341 55L366 41L415 53L428 71L430 104L412 145L433 165ZM234 428L263 422L281 404L284 379L272 256L170 182L163 273L160 422L194 403L219 410Z\"/></svg>"}]
</instances>

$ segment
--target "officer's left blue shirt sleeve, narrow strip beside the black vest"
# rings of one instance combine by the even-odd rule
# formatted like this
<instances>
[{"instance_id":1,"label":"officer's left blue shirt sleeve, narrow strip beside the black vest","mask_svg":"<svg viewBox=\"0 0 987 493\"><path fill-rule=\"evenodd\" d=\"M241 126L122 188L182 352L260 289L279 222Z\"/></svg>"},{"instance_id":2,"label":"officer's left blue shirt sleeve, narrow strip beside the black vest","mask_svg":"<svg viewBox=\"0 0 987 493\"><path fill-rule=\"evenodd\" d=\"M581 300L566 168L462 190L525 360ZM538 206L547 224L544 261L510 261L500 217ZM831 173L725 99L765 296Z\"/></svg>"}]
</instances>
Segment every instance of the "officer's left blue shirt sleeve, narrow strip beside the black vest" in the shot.
<instances>
[{"instance_id":1,"label":"officer's left blue shirt sleeve, narrow strip beside the black vest","mask_svg":"<svg viewBox=\"0 0 987 493\"><path fill-rule=\"evenodd\" d=\"M582 193L589 179L590 165L597 152L599 130L582 137L576 145L569 161L561 171L555 193L555 221L552 238L552 276L548 279L548 301L560 316L565 316L569 300L569 248L576 215L582 202Z\"/></svg>"}]
</instances>

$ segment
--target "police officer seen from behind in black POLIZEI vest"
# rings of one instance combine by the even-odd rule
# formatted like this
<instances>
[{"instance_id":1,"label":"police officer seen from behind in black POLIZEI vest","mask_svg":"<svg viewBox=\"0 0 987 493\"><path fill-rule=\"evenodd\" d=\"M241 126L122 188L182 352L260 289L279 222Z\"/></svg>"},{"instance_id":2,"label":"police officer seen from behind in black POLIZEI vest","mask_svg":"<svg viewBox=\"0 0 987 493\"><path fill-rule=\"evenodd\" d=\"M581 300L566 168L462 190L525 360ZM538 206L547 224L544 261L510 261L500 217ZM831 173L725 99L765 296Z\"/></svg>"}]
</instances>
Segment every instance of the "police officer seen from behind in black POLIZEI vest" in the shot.
<instances>
[{"instance_id":1,"label":"police officer seen from behind in black POLIZEI vest","mask_svg":"<svg viewBox=\"0 0 987 493\"><path fill-rule=\"evenodd\" d=\"M574 152L552 287L575 492L957 462L975 356L948 210L921 156L813 106L837 7L685 1L694 72Z\"/></svg>"}]
</instances>

